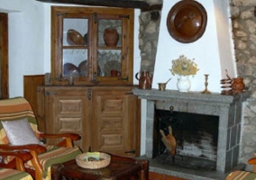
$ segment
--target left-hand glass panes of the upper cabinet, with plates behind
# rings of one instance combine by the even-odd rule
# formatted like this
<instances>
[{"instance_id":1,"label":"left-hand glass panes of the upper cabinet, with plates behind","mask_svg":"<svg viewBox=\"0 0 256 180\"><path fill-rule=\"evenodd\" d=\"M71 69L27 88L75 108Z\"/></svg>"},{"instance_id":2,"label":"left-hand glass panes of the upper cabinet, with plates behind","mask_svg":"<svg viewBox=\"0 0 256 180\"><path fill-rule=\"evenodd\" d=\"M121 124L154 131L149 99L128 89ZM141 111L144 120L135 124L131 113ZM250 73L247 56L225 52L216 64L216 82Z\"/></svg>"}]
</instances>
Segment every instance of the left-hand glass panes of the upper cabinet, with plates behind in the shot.
<instances>
[{"instance_id":1,"label":"left-hand glass panes of the upper cabinet, with plates behind","mask_svg":"<svg viewBox=\"0 0 256 180\"><path fill-rule=\"evenodd\" d=\"M87 18L63 18L62 76L88 76L87 34Z\"/></svg>"}]
</instances>

